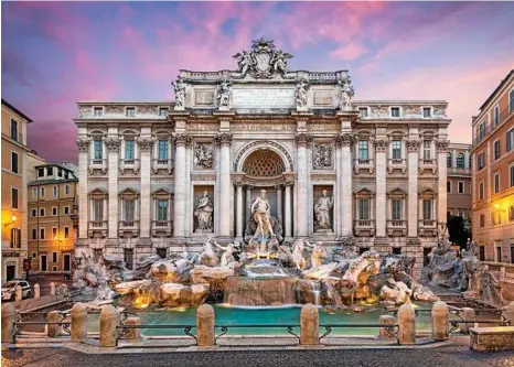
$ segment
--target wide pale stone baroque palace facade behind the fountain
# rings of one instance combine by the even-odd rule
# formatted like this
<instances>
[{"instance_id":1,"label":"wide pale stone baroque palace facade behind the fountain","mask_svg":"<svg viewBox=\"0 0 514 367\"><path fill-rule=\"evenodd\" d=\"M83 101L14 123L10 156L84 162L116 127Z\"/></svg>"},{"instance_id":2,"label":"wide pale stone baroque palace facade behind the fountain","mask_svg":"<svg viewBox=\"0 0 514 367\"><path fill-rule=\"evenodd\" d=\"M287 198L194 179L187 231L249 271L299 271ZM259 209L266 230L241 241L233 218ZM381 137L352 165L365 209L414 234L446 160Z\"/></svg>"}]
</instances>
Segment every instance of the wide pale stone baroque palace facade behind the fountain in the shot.
<instances>
[{"instance_id":1,"label":"wide pale stone baroque palace facade behind the fountain","mask_svg":"<svg viewBox=\"0 0 514 367\"><path fill-rule=\"evenodd\" d=\"M346 71L290 72L264 39L234 57L180 71L173 102L78 102L77 253L130 268L245 240L266 195L280 240L355 240L418 273L446 225L448 104L352 100Z\"/></svg>"}]
</instances>

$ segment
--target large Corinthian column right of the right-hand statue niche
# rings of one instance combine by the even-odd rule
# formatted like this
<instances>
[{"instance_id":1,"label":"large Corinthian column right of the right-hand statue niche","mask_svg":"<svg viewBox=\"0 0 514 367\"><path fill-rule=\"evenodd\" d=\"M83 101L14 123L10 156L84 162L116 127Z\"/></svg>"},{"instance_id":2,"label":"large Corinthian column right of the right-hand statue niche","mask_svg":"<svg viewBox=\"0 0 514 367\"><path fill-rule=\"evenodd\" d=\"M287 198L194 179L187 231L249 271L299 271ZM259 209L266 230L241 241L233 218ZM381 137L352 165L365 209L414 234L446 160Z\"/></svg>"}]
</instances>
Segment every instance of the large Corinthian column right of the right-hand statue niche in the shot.
<instances>
[{"instance_id":1,"label":"large Corinthian column right of the right-hand statue niche","mask_svg":"<svg viewBox=\"0 0 514 367\"><path fill-rule=\"evenodd\" d=\"M352 236L352 143L353 136L343 133L338 139L341 145L341 207L343 237Z\"/></svg>"}]
</instances>

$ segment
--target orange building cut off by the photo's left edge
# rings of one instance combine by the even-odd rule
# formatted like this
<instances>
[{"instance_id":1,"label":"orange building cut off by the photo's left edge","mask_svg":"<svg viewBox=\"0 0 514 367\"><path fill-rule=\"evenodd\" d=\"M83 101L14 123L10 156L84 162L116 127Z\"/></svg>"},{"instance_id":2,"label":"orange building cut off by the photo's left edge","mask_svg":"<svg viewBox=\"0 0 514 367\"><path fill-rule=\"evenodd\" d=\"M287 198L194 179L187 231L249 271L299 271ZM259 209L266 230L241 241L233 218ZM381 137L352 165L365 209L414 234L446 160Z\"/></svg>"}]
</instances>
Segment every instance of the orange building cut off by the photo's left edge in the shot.
<instances>
[{"instance_id":1,"label":"orange building cut off by the photo's left edge","mask_svg":"<svg viewBox=\"0 0 514 367\"><path fill-rule=\"evenodd\" d=\"M21 278L26 259L26 125L32 119L2 98L1 282Z\"/></svg>"}]
</instances>

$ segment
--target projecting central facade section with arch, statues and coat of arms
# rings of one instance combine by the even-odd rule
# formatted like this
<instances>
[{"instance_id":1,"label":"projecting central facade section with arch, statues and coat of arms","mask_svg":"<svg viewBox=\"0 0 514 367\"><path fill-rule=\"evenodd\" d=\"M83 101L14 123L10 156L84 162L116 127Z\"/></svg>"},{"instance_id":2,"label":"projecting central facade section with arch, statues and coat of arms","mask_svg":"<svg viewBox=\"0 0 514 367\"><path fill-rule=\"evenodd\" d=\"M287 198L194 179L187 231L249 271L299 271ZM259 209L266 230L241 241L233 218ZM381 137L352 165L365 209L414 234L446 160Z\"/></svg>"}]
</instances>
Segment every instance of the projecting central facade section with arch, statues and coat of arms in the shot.
<instances>
[{"instance_id":1,"label":"projecting central facade section with arch, statues and coat of arms","mask_svg":"<svg viewBox=\"0 0 514 367\"><path fill-rule=\"evenodd\" d=\"M236 71L180 71L173 83L174 239L197 242L210 233L269 247L351 237L350 145L358 114L347 71L289 71L292 55L265 39L233 57ZM199 163L205 156L212 161ZM207 201L211 217L202 212Z\"/></svg>"}]
</instances>

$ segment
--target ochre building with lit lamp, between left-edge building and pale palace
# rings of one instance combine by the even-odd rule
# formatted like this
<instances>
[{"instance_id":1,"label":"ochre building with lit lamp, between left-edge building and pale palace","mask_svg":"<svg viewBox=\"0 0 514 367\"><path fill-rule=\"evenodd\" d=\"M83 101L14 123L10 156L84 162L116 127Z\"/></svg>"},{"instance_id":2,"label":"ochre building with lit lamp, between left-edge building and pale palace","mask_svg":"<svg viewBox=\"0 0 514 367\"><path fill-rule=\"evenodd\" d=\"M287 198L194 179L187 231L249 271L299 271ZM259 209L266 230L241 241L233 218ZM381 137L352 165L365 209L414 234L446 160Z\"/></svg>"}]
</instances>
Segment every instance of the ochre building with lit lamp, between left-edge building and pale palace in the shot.
<instances>
[{"instance_id":1,"label":"ochre building with lit lamp, between left-edge building and pale palace","mask_svg":"<svg viewBox=\"0 0 514 367\"><path fill-rule=\"evenodd\" d=\"M76 234L73 223L78 179L60 164L35 166L29 182L29 256L31 277L66 279L72 271Z\"/></svg>"}]
</instances>

